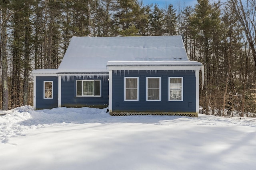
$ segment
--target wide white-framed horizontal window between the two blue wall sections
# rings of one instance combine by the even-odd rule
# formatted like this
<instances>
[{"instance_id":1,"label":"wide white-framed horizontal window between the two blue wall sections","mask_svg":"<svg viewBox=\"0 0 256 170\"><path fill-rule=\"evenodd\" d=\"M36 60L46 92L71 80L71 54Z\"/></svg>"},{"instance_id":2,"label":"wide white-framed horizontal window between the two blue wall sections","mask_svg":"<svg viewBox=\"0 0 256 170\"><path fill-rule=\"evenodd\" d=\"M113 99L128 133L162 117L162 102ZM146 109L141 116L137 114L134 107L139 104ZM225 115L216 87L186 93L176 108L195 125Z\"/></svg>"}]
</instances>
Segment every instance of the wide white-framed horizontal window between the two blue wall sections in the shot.
<instances>
[{"instance_id":1,"label":"wide white-framed horizontal window between the two blue wall sections","mask_svg":"<svg viewBox=\"0 0 256 170\"><path fill-rule=\"evenodd\" d=\"M100 80L76 80L76 96L100 96Z\"/></svg>"}]
</instances>

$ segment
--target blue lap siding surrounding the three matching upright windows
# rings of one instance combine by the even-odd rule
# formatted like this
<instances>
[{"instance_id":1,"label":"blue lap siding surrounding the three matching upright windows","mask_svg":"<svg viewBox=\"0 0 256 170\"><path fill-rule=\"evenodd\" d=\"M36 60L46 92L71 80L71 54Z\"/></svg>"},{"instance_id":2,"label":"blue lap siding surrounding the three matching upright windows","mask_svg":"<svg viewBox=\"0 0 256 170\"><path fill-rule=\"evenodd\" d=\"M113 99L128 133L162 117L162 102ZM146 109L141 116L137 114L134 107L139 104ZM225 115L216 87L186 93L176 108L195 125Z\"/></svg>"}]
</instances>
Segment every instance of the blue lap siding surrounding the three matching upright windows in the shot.
<instances>
[{"instance_id":1,"label":"blue lap siding surrounding the three matching upright windows","mask_svg":"<svg viewBox=\"0 0 256 170\"><path fill-rule=\"evenodd\" d=\"M192 70L113 71L113 112L195 112L196 77ZM124 77L139 77L139 101L124 101ZM146 77L161 77L161 101L146 101ZM183 77L183 101L168 101L168 77Z\"/></svg>"}]
</instances>

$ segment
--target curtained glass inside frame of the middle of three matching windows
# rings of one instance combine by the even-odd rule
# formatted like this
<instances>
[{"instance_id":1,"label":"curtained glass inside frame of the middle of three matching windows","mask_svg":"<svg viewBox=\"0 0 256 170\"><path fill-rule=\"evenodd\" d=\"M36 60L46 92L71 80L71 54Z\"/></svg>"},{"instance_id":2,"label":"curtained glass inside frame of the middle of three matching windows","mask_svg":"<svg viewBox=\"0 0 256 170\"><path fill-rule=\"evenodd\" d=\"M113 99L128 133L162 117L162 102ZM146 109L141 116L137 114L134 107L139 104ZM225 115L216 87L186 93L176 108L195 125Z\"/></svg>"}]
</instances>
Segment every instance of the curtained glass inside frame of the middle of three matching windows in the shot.
<instances>
[{"instance_id":1,"label":"curtained glass inside frame of the middle of three matching windows","mask_svg":"<svg viewBox=\"0 0 256 170\"><path fill-rule=\"evenodd\" d=\"M148 78L148 100L159 100L159 78Z\"/></svg>"}]
</instances>

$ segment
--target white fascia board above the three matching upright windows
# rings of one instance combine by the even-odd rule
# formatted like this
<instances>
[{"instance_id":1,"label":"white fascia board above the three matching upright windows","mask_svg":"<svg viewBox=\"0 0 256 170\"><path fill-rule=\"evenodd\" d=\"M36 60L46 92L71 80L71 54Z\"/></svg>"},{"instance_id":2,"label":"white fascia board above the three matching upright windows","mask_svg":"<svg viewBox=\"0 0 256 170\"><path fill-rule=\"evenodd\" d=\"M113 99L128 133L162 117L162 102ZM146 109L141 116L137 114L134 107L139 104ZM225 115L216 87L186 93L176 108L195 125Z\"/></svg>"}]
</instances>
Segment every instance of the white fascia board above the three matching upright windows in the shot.
<instances>
[{"instance_id":1,"label":"white fascia board above the three matching upright windows","mask_svg":"<svg viewBox=\"0 0 256 170\"><path fill-rule=\"evenodd\" d=\"M200 70L202 66L108 66L108 70Z\"/></svg>"}]
</instances>

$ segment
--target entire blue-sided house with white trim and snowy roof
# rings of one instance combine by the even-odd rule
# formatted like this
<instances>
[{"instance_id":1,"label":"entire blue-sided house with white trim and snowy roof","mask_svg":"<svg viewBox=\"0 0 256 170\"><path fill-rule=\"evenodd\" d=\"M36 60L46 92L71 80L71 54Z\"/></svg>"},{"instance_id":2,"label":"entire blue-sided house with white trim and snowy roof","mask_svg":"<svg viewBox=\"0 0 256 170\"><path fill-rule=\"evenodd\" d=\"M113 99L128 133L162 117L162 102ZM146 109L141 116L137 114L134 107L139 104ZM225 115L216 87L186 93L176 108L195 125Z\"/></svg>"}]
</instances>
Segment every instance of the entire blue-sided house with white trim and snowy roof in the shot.
<instances>
[{"instance_id":1,"label":"entire blue-sided house with white trim and snowy roof","mask_svg":"<svg viewBox=\"0 0 256 170\"><path fill-rule=\"evenodd\" d=\"M34 109L197 117L203 68L188 60L181 35L72 37L58 69L32 71Z\"/></svg>"}]
</instances>

